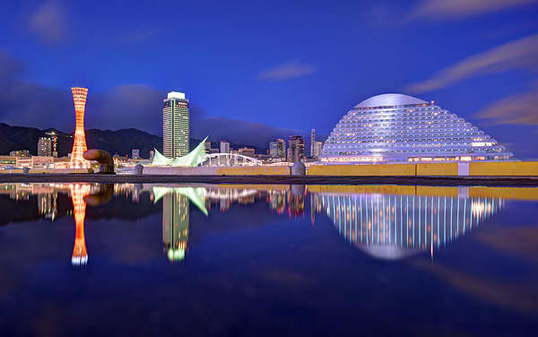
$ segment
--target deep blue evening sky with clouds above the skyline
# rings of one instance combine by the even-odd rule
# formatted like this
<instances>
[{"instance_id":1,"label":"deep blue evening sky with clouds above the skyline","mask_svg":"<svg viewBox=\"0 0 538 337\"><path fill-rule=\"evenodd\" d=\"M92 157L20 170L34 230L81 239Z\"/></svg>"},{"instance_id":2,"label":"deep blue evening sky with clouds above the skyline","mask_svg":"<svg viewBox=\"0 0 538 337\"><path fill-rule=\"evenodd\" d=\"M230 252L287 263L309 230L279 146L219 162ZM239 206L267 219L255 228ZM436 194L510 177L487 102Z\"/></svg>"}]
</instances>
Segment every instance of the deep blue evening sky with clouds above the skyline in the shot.
<instances>
[{"instance_id":1,"label":"deep blue evening sky with clouds above the skyline","mask_svg":"<svg viewBox=\"0 0 538 337\"><path fill-rule=\"evenodd\" d=\"M538 1L3 1L0 122L161 134L184 91L193 135L264 144L328 134L349 108L435 100L538 157Z\"/></svg>"}]
</instances>

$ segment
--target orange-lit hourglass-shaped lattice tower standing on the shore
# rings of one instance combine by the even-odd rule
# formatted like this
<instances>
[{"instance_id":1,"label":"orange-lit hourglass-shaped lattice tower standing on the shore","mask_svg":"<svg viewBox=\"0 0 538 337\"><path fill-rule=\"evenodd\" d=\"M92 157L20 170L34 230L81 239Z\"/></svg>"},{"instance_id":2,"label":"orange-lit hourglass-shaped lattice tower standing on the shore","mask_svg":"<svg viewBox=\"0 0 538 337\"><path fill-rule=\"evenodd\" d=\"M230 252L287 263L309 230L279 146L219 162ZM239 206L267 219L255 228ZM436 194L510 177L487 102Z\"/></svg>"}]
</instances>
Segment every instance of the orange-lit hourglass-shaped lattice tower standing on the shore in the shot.
<instances>
[{"instance_id":1,"label":"orange-lit hourglass-shaped lattice tower standing on the shore","mask_svg":"<svg viewBox=\"0 0 538 337\"><path fill-rule=\"evenodd\" d=\"M75 129L69 168L87 168L89 166L88 161L82 158L82 153L88 150L86 148L86 135L84 134L84 108L86 107L88 89L71 88L71 91L73 91Z\"/></svg>"}]
</instances>

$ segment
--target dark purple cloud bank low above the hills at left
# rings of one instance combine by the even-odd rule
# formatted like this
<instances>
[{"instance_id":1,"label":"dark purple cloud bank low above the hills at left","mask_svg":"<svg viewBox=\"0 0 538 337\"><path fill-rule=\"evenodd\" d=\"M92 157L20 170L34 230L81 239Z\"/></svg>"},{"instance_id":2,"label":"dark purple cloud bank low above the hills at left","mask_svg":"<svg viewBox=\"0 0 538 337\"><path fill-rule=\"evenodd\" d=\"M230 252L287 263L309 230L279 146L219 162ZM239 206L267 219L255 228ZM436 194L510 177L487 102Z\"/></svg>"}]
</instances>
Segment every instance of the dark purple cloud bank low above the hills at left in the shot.
<instances>
[{"instance_id":1,"label":"dark purple cloud bank low above the hills at left","mask_svg":"<svg viewBox=\"0 0 538 337\"><path fill-rule=\"evenodd\" d=\"M0 123L74 131L74 107L70 88L52 88L25 81L24 65L0 51ZM82 83L83 85L83 83ZM134 127L151 134L162 133L162 99L165 91L144 84L117 86L96 92L90 88L84 124L87 129L117 130ZM29 99L31 98L31 99ZM297 130L226 117L208 117L191 104L191 135L212 141L226 139L267 147L273 138L299 134Z\"/></svg>"}]
</instances>

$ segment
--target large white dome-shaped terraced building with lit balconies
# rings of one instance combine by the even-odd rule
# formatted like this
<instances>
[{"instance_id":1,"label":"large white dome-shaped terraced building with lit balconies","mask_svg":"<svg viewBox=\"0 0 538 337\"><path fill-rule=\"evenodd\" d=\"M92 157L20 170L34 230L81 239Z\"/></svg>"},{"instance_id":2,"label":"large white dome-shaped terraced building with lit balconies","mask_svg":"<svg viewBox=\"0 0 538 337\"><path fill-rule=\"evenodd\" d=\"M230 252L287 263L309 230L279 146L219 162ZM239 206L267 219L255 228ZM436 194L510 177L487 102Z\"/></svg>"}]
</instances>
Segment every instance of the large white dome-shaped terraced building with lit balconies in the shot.
<instances>
[{"instance_id":1,"label":"large white dome-shaped terraced building with lit balconies","mask_svg":"<svg viewBox=\"0 0 538 337\"><path fill-rule=\"evenodd\" d=\"M389 93L356 105L334 126L325 162L507 160L490 135L433 101Z\"/></svg>"}]
</instances>

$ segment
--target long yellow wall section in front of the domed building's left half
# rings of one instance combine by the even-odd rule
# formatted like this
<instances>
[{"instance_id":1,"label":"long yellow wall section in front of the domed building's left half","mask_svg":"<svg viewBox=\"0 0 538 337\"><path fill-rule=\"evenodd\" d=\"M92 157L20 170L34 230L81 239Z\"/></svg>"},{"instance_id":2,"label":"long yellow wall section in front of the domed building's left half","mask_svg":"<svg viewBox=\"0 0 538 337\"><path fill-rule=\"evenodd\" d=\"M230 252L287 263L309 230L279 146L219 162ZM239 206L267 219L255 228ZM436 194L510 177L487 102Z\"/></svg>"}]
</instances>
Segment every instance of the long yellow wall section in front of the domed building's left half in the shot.
<instances>
[{"instance_id":1,"label":"long yellow wall section in front of the domed building's left half","mask_svg":"<svg viewBox=\"0 0 538 337\"><path fill-rule=\"evenodd\" d=\"M414 176L414 164L312 165L308 176Z\"/></svg>"}]
</instances>

